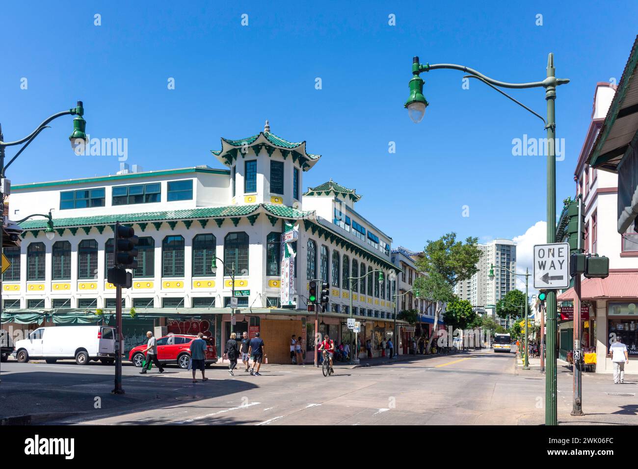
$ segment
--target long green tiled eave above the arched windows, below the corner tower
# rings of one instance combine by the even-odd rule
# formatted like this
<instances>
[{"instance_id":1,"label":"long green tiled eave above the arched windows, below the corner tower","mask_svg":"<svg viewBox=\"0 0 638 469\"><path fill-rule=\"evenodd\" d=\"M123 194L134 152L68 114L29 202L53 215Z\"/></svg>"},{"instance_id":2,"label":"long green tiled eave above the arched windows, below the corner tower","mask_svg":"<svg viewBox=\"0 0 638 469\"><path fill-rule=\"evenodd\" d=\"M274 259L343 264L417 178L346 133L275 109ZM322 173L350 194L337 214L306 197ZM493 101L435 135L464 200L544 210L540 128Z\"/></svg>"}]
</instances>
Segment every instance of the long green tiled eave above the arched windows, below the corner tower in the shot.
<instances>
[{"instance_id":1,"label":"long green tiled eave above the arched windows, below the corner tower","mask_svg":"<svg viewBox=\"0 0 638 469\"><path fill-rule=\"evenodd\" d=\"M205 207L201 209L185 209L164 212L142 212L125 214L108 214L83 216L76 218L54 218L54 228L82 227L92 225L109 225L120 221L121 223L136 223L145 221L169 221L169 220L196 220L202 218L224 218L247 216L253 212L265 209L273 216L281 218L302 218L310 212L302 212L285 205L252 204L252 205L228 205L225 207ZM37 230L47 227L47 220L27 220L20 223L23 230Z\"/></svg>"}]
</instances>

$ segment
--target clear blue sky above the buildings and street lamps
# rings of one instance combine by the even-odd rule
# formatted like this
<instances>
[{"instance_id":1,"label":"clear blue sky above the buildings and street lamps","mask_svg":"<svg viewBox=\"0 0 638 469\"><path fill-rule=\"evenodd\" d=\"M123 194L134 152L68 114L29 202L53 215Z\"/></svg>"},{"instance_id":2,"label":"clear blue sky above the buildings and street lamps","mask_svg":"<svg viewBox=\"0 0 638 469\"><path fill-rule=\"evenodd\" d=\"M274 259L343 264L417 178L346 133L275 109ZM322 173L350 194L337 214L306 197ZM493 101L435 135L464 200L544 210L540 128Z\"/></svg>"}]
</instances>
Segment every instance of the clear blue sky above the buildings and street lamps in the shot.
<instances>
[{"instance_id":1,"label":"clear blue sky above the buildings and street lamps","mask_svg":"<svg viewBox=\"0 0 638 469\"><path fill-rule=\"evenodd\" d=\"M209 150L220 137L253 135L269 119L323 155L304 186L332 177L356 188L357 210L395 245L422 249L449 231L512 238L545 219L545 158L512 156L512 139L544 137L542 123L437 70L422 75L430 106L413 124L403 108L412 56L527 82L545 77L554 52L558 77L572 80L556 101L562 200L574 193L595 85L619 80L635 17L635 2L7 2L0 122L15 140L81 99L92 137L128 138L128 163L155 170L219 167ZM545 115L543 89L512 94ZM70 130L69 118L43 131L10 168L13 184L117 171L114 156L75 156Z\"/></svg>"}]
</instances>

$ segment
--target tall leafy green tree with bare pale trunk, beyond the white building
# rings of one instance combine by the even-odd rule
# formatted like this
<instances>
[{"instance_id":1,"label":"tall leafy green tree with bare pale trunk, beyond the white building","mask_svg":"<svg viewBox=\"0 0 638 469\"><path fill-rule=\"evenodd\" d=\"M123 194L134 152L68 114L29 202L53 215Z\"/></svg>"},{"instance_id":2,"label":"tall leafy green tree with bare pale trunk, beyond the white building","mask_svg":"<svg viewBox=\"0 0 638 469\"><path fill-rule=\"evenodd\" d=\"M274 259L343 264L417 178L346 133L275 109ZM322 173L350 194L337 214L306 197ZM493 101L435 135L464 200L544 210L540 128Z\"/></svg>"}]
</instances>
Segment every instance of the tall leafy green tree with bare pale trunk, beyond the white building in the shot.
<instances>
[{"instance_id":1,"label":"tall leafy green tree with bare pale trunk, beyond the white building","mask_svg":"<svg viewBox=\"0 0 638 469\"><path fill-rule=\"evenodd\" d=\"M454 285L477 272L481 251L477 238L468 237L465 242L456 241L456 233L443 235L436 241L427 241L423 257L417 262L417 270L425 276L415 280L414 288L419 296L426 298L434 308L434 330L438 326L441 311L446 303L454 301ZM430 334L426 352L429 353L436 334Z\"/></svg>"}]
</instances>

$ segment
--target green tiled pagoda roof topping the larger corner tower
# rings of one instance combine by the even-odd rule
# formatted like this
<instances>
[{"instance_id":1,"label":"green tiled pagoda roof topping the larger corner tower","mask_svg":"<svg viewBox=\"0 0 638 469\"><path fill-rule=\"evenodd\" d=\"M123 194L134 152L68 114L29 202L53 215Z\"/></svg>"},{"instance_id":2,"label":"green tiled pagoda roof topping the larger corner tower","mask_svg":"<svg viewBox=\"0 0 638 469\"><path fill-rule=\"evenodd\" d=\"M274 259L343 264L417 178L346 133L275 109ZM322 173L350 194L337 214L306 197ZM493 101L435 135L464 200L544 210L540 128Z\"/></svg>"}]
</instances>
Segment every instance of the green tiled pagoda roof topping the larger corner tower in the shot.
<instances>
[{"instance_id":1,"label":"green tiled pagoda roof topping the larger corner tower","mask_svg":"<svg viewBox=\"0 0 638 469\"><path fill-rule=\"evenodd\" d=\"M239 152L242 147L253 147L256 153L262 148L271 155L276 149L281 151L283 158L292 156L295 163L299 163L300 167L307 171L321 158L320 154L306 153L306 142L288 142L284 138L278 137L268 130L252 135L251 137L241 138L239 140L231 140L230 138L221 138L221 150L211 150L221 163L231 166L233 161L239 158Z\"/></svg>"}]
</instances>

